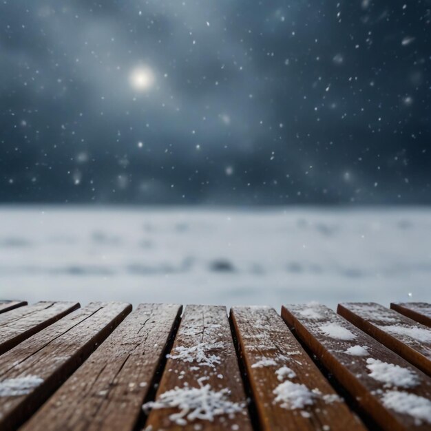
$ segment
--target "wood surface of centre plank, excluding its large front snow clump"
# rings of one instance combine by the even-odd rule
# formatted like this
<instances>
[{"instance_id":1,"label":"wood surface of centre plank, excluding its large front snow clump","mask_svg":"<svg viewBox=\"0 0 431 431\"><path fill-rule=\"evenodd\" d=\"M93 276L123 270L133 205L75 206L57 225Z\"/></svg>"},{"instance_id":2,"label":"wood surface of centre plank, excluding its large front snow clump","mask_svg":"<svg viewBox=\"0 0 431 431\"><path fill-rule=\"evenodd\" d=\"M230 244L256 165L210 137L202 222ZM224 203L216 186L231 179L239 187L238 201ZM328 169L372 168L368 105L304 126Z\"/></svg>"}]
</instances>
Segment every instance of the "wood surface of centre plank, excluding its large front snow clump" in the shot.
<instances>
[{"instance_id":1,"label":"wood surface of centre plank, excluding its large front snow clump","mask_svg":"<svg viewBox=\"0 0 431 431\"><path fill-rule=\"evenodd\" d=\"M191 350L189 350L190 348ZM212 358L209 359L209 362L213 361L213 364L205 365L205 360L198 361L197 350L193 350L194 348L198 348L204 357ZM189 351L191 361L187 359L187 355L183 358L175 358L181 353ZM252 430L226 308L222 306L187 306L171 355L167 359L156 401L160 401L167 391L174 390L176 387L182 390L200 388L207 384L211 390L218 393L228 388L230 392L225 398L229 402L240 404L241 411L232 415L216 415L213 421L188 420L186 416L185 423L180 424L171 417L172 414L180 412L178 408L153 409L149 413L145 429L153 431Z\"/></svg>"}]
</instances>

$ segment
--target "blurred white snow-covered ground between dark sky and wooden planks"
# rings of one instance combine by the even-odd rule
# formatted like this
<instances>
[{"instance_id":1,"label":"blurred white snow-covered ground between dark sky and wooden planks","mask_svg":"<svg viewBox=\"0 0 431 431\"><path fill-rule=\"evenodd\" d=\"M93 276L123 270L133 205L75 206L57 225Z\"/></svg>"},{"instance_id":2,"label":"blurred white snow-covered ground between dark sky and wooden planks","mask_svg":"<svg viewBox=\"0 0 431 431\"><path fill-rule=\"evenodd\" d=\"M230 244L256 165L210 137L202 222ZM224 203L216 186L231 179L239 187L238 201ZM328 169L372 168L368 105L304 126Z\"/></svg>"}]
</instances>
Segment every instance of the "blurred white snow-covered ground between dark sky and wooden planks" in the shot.
<instances>
[{"instance_id":1,"label":"blurred white snow-covered ground between dark sky and wooden planks","mask_svg":"<svg viewBox=\"0 0 431 431\"><path fill-rule=\"evenodd\" d=\"M431 300L431 209L0 207L0 297Z\"/></svg>"}]
</instances>

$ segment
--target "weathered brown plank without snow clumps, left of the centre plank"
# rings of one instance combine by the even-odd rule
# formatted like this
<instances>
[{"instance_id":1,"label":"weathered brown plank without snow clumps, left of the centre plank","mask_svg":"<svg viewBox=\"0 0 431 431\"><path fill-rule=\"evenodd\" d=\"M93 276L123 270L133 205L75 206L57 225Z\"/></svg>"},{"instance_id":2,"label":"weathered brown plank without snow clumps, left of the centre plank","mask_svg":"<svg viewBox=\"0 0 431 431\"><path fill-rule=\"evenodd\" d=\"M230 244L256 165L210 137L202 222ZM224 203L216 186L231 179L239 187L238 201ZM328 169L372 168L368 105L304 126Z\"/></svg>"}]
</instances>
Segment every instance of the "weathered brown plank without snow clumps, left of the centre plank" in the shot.
<instances>
[{"instance_id":1,"label":"weathered brown plank without snow clumps, left of the centre plank","mask_svg":"<svg viewBox=\"0 0 431 431\"><path fill-rule=\"evenodd\" d=\"M138 306L21 431L134 430L181 309Z\"/></svg>"}]
</instances>

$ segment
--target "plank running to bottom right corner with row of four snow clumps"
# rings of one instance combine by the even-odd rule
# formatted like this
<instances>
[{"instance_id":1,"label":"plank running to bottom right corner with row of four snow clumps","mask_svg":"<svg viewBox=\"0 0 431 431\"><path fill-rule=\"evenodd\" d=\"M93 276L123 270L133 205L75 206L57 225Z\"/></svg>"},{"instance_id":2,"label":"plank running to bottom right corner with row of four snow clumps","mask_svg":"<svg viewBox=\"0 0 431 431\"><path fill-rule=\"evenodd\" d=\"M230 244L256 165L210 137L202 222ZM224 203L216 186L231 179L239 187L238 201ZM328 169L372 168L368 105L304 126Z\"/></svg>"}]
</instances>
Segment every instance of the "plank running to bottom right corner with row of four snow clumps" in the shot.
<instances>
[{"instance_id":1,"label":"plank running to bottom right corner with row of four snow clumps","mask_svg":"<svg viewBox=\"0 0 431 431\"><path fill-rule=\"evenodd\" d=\"M383 430L430 430L431 379L325 306L282 317Z\"/></svg>"}]
</instances>

